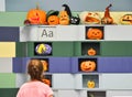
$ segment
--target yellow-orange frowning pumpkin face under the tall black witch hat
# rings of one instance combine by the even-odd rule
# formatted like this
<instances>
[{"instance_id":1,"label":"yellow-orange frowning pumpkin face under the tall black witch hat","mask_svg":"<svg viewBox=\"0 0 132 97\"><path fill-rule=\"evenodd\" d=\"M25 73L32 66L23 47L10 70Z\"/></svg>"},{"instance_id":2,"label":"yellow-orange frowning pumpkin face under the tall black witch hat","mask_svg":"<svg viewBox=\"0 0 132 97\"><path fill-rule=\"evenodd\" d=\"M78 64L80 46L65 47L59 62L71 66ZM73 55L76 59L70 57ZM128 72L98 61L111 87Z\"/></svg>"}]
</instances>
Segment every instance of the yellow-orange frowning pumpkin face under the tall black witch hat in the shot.
<instances>
[{"instance_id":1,"label":"yellow-orange frowning pumpkin face under the tall black witch hat","mask_svg":"<svg viewBox=\"0 0 132 97\"><path fill-rule=\"evenodd\" d=\"M69 15L66 11L59 12L59 24L62 25L68 25L69 24Z\"/></svg>"}]
</instances>

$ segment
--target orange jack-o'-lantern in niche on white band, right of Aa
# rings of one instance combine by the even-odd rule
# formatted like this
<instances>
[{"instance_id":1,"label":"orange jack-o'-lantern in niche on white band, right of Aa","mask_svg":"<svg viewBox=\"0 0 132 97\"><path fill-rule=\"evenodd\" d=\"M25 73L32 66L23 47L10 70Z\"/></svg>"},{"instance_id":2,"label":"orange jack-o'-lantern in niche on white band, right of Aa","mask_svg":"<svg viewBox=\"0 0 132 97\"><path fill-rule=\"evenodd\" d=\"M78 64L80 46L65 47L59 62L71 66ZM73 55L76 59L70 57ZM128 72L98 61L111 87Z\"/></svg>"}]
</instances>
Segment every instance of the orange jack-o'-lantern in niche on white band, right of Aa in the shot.
<instances>
[{"instance_id":1,"label":"orange jack-o'-lantern in niche on white band, right of Aa","mask_svg":"<svg viewBox=\"0 0 132 97\"><path fill-rule=\"evenodd\" d=\"M103 36L102 31L100 29L90 28L87 31L87 37L89 40L101 40Z\"/></svg>"}]
</instances>

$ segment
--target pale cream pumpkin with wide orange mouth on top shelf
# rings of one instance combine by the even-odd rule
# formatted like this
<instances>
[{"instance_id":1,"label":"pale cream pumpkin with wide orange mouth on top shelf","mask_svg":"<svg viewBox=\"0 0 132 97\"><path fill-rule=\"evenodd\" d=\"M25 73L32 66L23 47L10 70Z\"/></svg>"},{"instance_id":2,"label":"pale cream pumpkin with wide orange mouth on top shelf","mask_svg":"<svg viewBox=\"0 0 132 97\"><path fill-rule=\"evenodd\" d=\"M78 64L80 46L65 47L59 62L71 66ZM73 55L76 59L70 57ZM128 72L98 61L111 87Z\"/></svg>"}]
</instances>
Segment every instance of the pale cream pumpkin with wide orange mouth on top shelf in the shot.
<instances>
[{"instance_id":1,"label":"pale cream pumpkin with wide orange mouth on top shelf","mask_svg":"<svg viewBox=\"0 0 132 97\"><path fill-rule=\"evenodd\" d=\"M99 24L101 17L97 12L84 11L79 14L81 23L84 24Z\"/></svg>"}]
</instances>

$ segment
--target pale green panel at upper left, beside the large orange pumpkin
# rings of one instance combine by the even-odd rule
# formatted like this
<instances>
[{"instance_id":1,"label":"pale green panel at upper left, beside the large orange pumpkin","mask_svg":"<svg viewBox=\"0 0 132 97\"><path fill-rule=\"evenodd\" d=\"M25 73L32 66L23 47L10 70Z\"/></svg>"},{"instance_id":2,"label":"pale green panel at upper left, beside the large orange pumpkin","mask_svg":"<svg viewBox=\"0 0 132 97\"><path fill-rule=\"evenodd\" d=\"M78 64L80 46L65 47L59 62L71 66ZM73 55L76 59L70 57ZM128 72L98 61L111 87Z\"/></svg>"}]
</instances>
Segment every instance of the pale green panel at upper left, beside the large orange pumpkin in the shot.
<instances>
[{"instance_id":1,"label":"pale green panel at upper left, beside the large orange pumpkin","mask_svg":"<svg viewBox=\"0 0 132 97\"><path fill-rule=\"evenodd\" d=\"M23 26L26 12L0 12L0 26Z\"/></svg>"}]
</instances>

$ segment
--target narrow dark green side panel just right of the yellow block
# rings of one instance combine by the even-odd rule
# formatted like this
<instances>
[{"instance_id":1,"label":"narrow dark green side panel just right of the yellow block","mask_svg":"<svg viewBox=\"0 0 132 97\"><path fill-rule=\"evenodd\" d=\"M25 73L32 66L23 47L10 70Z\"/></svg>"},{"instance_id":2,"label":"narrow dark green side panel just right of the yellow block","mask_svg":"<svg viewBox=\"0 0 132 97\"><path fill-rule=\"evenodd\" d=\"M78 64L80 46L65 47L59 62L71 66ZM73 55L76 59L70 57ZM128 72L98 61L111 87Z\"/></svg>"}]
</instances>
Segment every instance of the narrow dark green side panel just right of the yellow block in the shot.
<instances>
[{"instance_id":1,"label":"narrow dark green side panel just right of the yellow block","mask_svg":"<svg viewBox=\"0 0 132 97\"><path fill-rule=\"evenodd\" d=\"M26 56L26 42L16 42L15 43L15 54L16 57L24 57Z\"/></svg>"}]
</instances>

